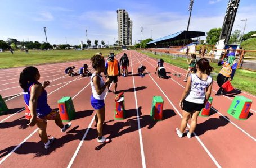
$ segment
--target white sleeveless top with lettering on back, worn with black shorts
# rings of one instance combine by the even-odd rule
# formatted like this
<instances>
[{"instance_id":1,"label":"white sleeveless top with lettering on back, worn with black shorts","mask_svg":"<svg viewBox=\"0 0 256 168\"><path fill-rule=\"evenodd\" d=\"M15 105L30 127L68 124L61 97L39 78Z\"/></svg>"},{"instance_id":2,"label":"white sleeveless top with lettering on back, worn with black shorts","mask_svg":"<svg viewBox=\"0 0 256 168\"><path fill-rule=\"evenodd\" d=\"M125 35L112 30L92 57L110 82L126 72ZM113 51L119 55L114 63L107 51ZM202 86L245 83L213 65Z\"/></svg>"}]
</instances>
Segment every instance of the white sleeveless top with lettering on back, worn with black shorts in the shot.
<instances>
[{"instance_id":1,"label":"white sleeveless top with lettering on back, worn with black shorts","mask_svg":"<svg viewBox=\"0 0 256 168\"><path fill-rule=\"evenodd\" d=\"M213 78L211 76L208 76L207 80L204 81L200 80L196 74L191 74L191 89L185 100L199 104L204 103L206 87L212 82Z\"/></svg>"}]
</instances>

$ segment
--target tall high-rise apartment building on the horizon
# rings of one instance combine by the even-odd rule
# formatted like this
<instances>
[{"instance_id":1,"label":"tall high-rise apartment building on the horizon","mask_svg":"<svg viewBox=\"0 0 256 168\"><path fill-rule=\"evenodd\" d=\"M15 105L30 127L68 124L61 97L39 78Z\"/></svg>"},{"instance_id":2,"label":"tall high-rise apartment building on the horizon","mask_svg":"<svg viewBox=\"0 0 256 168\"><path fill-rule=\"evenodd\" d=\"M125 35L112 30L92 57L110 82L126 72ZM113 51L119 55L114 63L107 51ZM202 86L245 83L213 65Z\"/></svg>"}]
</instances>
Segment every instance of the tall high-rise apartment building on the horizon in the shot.
<instances>
[{"instance_id":1,"label":"tall high-rise apartment building on the horizon","mask_svg":"<svg viewBox=\"0 0 256 168\"><path fill-rule=\"evenodd\" d=\"M118 41L122 45L132 45L132 20L127 11L117 10L118 14Z\"/></svg>"}]
</instances>

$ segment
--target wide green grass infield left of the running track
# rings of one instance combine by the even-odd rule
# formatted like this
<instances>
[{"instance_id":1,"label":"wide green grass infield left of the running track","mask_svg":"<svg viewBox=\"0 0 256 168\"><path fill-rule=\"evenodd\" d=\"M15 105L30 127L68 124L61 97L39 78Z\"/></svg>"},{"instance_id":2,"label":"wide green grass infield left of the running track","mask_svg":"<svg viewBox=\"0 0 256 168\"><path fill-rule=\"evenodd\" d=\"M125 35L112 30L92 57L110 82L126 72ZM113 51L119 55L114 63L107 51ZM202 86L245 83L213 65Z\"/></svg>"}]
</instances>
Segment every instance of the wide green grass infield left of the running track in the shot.
<instances>
[{"instance_id":1,"label":"wide green grass infield left of the running track","mask_svg":"<svg viewBox=\"0 0 256 168\"><path fill-rule=\"evenodd\" d=\"M89 59L96 53L102 52L104 56L113 50L47 50L47 51L29 51L26 54L23 51L0 52L0 68L12 68L33 66L46 63L69 62L74 60ZM115 54L118 52L114 52Z\"/></svg>"}]
</instances>

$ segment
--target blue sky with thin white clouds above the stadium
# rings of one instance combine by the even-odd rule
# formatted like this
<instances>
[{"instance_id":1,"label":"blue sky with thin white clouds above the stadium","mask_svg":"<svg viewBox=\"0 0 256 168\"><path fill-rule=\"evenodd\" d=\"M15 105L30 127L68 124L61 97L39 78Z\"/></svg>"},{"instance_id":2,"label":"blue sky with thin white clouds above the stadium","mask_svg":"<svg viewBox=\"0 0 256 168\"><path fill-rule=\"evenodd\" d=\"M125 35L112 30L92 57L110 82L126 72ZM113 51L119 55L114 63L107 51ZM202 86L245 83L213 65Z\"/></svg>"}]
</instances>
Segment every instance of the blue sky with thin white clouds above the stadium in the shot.
<instances>
[{"instance_id":1,"label":"blue sky with thin white clouds above the stadium","mask_svg":"<svg viewBox=\"0 0 256 168\"><path fill-rule=\"evenodd\" d=\"M118 39L116 10L125 9L133 21L132 43L158 39L187 29L190 0L0 0L0 40L46 41L50 44L79 45L88 39L113 45ZM228 0L194 0L191 31L208 32L222 27ZM256 1L241 0L233 31L256 30ZM201 38L201 39L205 39Z\"/></svg>"}]
</instances>

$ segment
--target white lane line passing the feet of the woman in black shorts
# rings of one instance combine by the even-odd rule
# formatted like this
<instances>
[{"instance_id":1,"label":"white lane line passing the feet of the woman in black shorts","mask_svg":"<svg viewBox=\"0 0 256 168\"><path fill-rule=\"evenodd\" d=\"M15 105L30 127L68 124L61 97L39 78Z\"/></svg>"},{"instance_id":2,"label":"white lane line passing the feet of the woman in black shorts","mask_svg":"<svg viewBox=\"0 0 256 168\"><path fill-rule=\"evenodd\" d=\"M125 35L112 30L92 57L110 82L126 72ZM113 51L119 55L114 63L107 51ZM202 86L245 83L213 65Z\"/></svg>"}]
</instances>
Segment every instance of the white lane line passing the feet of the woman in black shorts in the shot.
<instances>
[{"instance_id":1,"label":"white lane line passing the feet of the woman in black shorts","mask_svg":"<svg viewBox=\"0 0 256 168\"><path fill-rule=\"evenodd\" d=\"M148 62L149 63L149 62ZM152 64L151 64L152 65ZM153 66L154 67L154 66ZM146 70L147 71L147 70ZM170 104L173 106L173 108L176 110L176 112L179 114L179 116L182 118L181 113L179 113L179 111L177 110L177 108L174 106L174 104L172 103L172 101L170 101L169 97L165 94L165 92L161 89L161 87L158 85L158 83L156 83L156 81L154 80L154 78L152 78L151 74L147 71L147 73L149 74L149 76L151 77L151 79L154 81L155 85L158 86L159 90L162 92L162 94L165 96L165 98L170 102ZM190 125L188 125L188 128L190 128ZM201 141L201 139L196 135L196 133L194 133L194 136L196 137L197 141L201 144L201 146L204 148L204 150L206 151L206 153L209 155L209 157L212 159L212 161L214 162L214 164L217 167L221 167L221 165L218 164L217 160L215 160L215 158L213 157L212 153L210 153L210 151L208 150L208 148L206 148L206 146L204 145L204 143Z\"/></svg>"}]
</instances>

